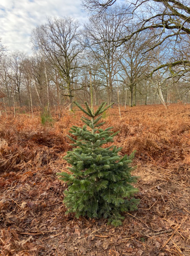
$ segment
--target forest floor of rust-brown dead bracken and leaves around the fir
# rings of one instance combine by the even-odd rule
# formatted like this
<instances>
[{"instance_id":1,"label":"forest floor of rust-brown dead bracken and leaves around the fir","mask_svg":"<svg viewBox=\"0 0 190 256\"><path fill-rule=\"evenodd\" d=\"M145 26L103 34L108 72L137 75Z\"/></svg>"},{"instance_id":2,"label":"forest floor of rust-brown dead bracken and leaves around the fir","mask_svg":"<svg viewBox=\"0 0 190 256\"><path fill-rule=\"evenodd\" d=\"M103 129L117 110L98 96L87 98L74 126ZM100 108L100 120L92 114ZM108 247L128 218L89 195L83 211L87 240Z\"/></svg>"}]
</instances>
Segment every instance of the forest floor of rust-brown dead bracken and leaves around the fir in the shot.
<instances>
[{"instance_id":1,"label":"forest floor of rust-brown dead bracken and leaves around the fir","mask_svg":"<svg viewBox=\"0 0 190 256\"><path fill-rule=\"evenodd\" d=\"M12 114L0 119L0 255L164 256L190 255L190 105L114 107L104 127L119 131L121 155L134 150L138 210L126 212L123 226L105 219L65 215L71 150L66 134L82 125L82 112L65 111L42 125L40 117Z\"/></svg>"}]
</instances>

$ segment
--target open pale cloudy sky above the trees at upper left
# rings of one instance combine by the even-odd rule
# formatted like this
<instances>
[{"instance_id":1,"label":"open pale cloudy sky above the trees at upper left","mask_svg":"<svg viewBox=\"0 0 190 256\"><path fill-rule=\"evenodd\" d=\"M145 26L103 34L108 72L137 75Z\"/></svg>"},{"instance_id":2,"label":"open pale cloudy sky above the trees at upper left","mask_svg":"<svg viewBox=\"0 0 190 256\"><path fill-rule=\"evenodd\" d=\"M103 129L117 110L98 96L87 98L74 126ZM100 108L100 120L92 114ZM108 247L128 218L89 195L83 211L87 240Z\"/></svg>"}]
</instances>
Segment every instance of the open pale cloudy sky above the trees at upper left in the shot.
<instances>
[{"instance_id":1,"label":"open pale cloudy sky above the trees at upper left","mask_svg":"<svg viewBox=\"0 0 190 256\"><path fill-rule=\"evenodd\" d=\"M80 0L1 0L0 38L10 51L31 53L33 28L45 24L47 17L70 16L81 23L87 21Z\"/></svg>"}]
</instances>

